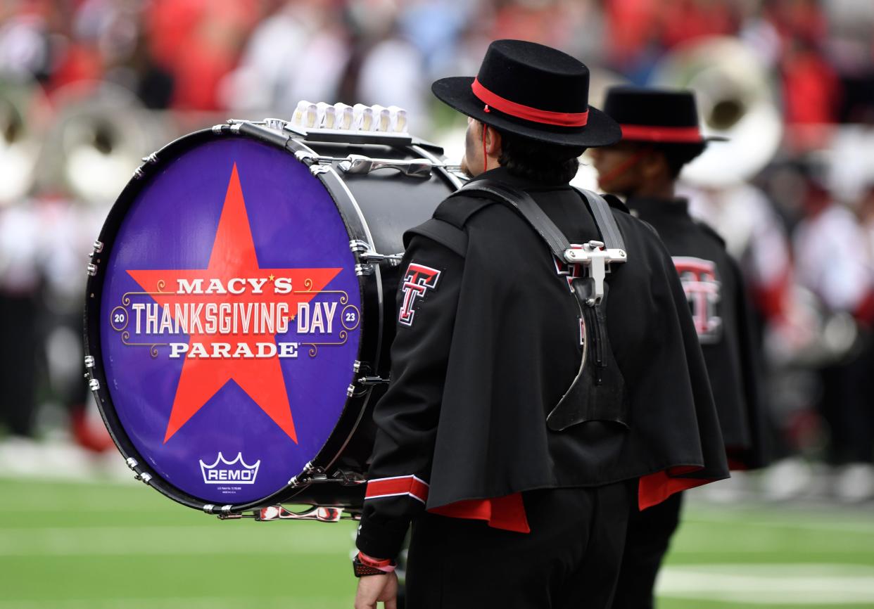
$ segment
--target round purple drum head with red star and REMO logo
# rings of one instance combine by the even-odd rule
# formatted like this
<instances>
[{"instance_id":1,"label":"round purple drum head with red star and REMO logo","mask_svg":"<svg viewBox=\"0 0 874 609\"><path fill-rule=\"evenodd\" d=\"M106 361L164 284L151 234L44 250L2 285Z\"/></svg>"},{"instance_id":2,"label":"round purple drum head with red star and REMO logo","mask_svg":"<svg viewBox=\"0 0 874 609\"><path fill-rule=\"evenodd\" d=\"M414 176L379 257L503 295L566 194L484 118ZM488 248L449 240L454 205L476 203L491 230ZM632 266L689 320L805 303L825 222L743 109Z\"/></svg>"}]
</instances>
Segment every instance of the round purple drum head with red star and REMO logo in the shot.
<instances>
[{"instance_id":1,"label":"round purple drum head with red star and REMO logo","mask_svg":"<svg viewBox=\"0 0 874 609\"><path fill-rule=\"evenodd\" d=\"M101 293L114 409L166 481L258 501L343 411L361 322L349 235L302 163L253 140L202 142L148 180Z\"/></svg>"}]
</instances>

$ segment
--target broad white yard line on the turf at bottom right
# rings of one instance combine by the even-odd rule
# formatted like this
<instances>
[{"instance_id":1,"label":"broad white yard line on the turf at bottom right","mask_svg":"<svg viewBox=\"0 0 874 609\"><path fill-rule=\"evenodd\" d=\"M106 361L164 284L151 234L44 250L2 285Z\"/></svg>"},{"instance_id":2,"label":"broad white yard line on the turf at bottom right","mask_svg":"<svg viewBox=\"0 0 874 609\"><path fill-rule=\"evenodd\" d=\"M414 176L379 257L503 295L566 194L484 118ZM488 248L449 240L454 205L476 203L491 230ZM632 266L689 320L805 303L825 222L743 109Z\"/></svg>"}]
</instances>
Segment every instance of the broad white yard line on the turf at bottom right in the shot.
<instances>
[{"instance_id":1,"label":"broad white yard line on the turf at bottom right","mask_svg":"<svg viewBox=\"0 0 874 609\"><path fill-rule=\"evenodd\" d=\"M666 567L659 596L771 606L874 603L874 567L857 564L708 564Z\"/></svg>"}]
</instances>

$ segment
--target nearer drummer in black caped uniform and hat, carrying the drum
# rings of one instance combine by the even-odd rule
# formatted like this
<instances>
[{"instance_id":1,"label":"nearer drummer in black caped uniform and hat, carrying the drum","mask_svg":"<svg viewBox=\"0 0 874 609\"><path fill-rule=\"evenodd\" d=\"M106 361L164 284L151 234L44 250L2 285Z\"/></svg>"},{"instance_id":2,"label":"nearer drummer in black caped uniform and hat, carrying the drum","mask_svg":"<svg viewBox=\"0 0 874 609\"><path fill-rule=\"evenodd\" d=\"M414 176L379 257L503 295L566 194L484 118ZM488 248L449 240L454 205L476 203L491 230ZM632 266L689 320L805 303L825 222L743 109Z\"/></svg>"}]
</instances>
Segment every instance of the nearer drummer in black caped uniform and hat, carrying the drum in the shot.
<instances>
[{"instance_id":1,"label":"nearer drummer in black caped uniform and hat, carrying the drum","mask_svg":"<svg viewBox=\"0 0 874 609\"><path fill-rule=\"evenodd\" d=\"M596 222L568 185L586 148L621 138L588 105L588 83L586 66L563 52L499 40L476 78L432 87L468 116L472 184L531 197L571 243L618 225L628 261L611 269L584 327L589 305L568 286L586 267L553 258L482 190L448 198L407 233L392 383L374 412L353 560L358 609L394 606L411 522L409 606L610 606L632 506L727 475L668 253L618 200ZM584 356L597 366L583 370L600 383L598 403L567 405ZM558 405L602 415L559 430L547 422Z\"/></svg>"}]
</instances>

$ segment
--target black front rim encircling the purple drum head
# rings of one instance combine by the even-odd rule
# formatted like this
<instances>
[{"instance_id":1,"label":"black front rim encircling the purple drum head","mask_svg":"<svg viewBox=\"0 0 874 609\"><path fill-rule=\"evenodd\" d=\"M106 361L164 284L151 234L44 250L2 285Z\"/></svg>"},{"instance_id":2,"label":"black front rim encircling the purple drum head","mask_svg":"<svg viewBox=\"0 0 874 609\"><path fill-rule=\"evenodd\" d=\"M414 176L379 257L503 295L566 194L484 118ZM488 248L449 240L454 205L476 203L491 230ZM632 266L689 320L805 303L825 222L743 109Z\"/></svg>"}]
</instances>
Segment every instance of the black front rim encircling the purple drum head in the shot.
<instances>
[{"instance_id":1,"label":"black front rim encircling the purple drum head","mask_svg":"<svg viewBox=\"0 0 874 609\"><path fill-rule=\"evenodd\" d=\"M244 124L247 126L251 125L253 128L257 127L253 123ZM91 384L94 384L94 381L97 381L96 388L92 386L91 391L94 393L94 399L98 405L99 411L101 412L101 418L103 419L104 425L107 427L109 435L113 439L116 448L127 462L128 467L135 472L135 478L146 482L149 486L155 488L162 495L169 497L173 501L192 509L202 509L207 513L239 513L247 510L259 509L268 505L274 505L287 501L295 495L300 494L303 489L309 487L309 484L299 482L295 483L295 480L297 480L301 475L298 474L298 476L293 477L286 486L279 488L271 495L267 495L266 497L252 502L227 504L217 507L214 503L207 502L196 495L191 495L182 488L178 488L176 485L170 483L170 481L165 480L160 474L156 473L154 469L148 467L146 460L137 450L133 441L124 429L124 426L121 425L121 420L118 417L112 397L108 391L106 371L103 366L101 354L100 314L102 288L104 280L106 279L106 273L102 272L103 267L101 266L101 260L108 259L108 256L112 251L114 239L121 229L121 223L124 218L127 217L130 206L134 203L136 197L147 183L142 178L160 170L163 167L163 158L185 149L191 149L193 148L193 145L198 142L216 141L219 138L227 137L228 135L219 135L227 133L233 134L232 136L244 135L257 142L267 143L275 148L285 149L288 154L291 154L292 156L297 150L311 152L309 147L302 142L297 141L295 138L291 137L291 135L287 136L285 134L279 134L265 128L259 128L260 131L264 132L263 134L260 134L261 136L259 136L257 131L251 133L251 129L246 130L250 131L249 133L241 133L238 125L239 123L232 126L218 125L215 128L200 129L182 135L173 142L163 146L163 148L159 149L153 155L146 157L146 160L144 160L144 163L140 168L135 170L134 176L128 181L124 190L122 190L119 196L115 199L115 202L108 211L107 218L101 227L98 241L102 246L100 248L95 247L95 251L92 254L92 264L95 267L95 272L93 274L89 273L87 279L85 307L83 312L85 322L83 339L87 362L87 378ZM329 177L329 180L325 179L326 176ZM346 227L346 232L350 235L350 239L366 238L368 239L368 243L371 243L372 239L366 218L364 218L364 214L358 206L355 197L352 195L348 187L346 187L345 183L343 183L343 179L336 173L336 170L330 168L329 170L316 175L316 177L320 182L322 182L323 188L328 191L329 196L334 201L337 212L343 219L343 225ZM333 184L329 184L328 181ZM338 184L342 185L343 188L338 188ZM100 251L98 251L98 249ZM364 323L364 315L362 315L357 361L373 363L376 365L382 356L384 324L384 294L382 278L378 266L375 266L374 273L371 277L373 278L372 280L375 280L377 290L375 294L376 299L373 300L373 297L371 296L370 310L374 310L374 315L377 316L378 331L376 332L376 336L371 336L373 332L368 329L368 324ZM358 277L358 289L363 312L364 309L369 308L367 303L368 294L365 289L365 283L369 280L371 279L368 279L367 276ZM372 307L376 307L376 309L373 309ZM350 381L354 382L354 380L355 372L354 370L350 370ZM351 386L352 385L350 384L350 387ZM348 445L350 439L357 431L361 420L364 419L364 412L366 412L370 406L372 393L373 388L366 387L360 394L353 395L345 400L343 410L340 412L340 416L337 418L334 428L331 430L331 433L329 433L322 448L316 452L313 459L309 461L306 467L304 467L302 474L321 473L336 462L339 456L343 453L345 446ZM343 433L338 433L338 430L343 428L348 429ZM340 446L334 450L331 446L336 444L334 440L339 439L340 436L342 436L342 441L339 442ZM334 454L326 460L326 453ZM363 490L364 489L362 489L362 494Z\"/></svg>"}]
</instances>

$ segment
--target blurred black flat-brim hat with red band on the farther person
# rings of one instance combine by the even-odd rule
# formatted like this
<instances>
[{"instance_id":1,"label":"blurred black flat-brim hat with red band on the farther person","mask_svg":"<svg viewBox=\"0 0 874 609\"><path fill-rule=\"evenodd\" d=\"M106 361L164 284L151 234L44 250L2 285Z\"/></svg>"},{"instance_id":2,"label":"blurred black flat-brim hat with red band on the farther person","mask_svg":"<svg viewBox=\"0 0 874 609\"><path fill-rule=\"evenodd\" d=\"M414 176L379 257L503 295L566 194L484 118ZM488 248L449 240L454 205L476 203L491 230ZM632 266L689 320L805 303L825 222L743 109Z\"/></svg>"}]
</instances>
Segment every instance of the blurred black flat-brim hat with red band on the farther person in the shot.
<instances>
[{"instance_id":1,"label":"blurred black flat-brim hat with red band on the farther person","mask_svg":"<svg viewBox=\"0 0 874 609\"><path fill-rule=\"evenodd\" d=\"M611 87L607 89L604 112L620 124L623 142L699 145L726 139L701 133L691 91Z\"/></svg>"}]
</instances>

